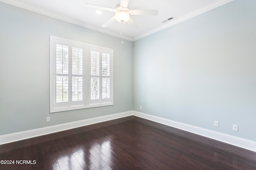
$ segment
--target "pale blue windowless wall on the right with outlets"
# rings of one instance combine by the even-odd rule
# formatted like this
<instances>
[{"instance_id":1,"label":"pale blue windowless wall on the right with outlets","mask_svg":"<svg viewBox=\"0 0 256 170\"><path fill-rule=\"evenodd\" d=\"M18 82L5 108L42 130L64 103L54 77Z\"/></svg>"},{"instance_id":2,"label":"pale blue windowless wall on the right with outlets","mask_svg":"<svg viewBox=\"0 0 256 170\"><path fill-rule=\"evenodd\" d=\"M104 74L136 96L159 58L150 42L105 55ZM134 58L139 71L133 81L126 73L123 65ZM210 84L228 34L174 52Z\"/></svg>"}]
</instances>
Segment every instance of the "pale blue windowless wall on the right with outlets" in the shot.
<instances>
[{"instance_id":1,"label":"pale blue windowless wall on the right with outlets","mask_svg":"<svg viewBox=\"0 0 256 170\"><path fill-rule=\"evenodd\" d=\"M256 141L255 7L234 0L135 41L134 110Z\"/></svg>"}]
</instances>

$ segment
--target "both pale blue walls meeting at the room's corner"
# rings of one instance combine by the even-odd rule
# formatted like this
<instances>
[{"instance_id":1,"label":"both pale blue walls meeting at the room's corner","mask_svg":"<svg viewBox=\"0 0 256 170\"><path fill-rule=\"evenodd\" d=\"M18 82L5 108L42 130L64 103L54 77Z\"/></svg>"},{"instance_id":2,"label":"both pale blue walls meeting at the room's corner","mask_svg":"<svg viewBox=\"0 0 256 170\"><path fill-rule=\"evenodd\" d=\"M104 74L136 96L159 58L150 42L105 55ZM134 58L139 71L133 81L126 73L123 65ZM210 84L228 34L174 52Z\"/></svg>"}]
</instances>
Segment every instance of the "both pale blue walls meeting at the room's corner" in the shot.
<instances>
[{"instance_id":1,"label":"both pale blue walls meeting at the room's corner","mask_svg":"<svg viewBox=\"0 0 256 170\"><path fill-rule=\"evenodd\" d=\"M255 6L234 0L121 45L0 2L0 135L134 109L256 141ZM49 113L50 35L114 49L114 106Z\"/></svg>"}]
</instances>

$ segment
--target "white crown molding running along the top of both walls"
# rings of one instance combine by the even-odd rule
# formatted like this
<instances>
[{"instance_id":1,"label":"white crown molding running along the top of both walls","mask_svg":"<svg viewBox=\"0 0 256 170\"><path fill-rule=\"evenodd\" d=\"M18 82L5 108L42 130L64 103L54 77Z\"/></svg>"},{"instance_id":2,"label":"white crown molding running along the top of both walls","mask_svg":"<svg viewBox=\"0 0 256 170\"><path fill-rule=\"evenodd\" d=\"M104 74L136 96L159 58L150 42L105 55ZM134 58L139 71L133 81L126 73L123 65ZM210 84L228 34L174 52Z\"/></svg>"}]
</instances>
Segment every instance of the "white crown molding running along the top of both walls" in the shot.
<instances>
[{"instance_id":1,"label":"white crown molding running along the top of both walls","mask_svg":"<svg viewBox=\"0 0 256 170\"><path fill-rule=\"evenodd\" d=\"M95 31L99 31L101 33L106 33L108 35L112 35L114 37L118 37L118 38L122 38L122 39L126 39L128 41L136 41L138 39L141 39L143 37L146 37L148 35L151 35L153 33L156 33L158 31L161 31L163 29L166 29L168 27L171 27L172 25L175 25L177 23L180 23L182 21L185 21L185 20L188 20L194 16L198 16L204 12L207 12L209 10L212 10L214 8L217 8L218 6L222 6L224 4L227 4L228 2L231 2L233 0L218 0L216 2L213 2L212 4L209 4L207 6L204 6L203 8L200 8L198 10L195 10L189 14L186 14L180 18L175 18L174 20L160 26L160 27L157 27L156 29L152 29L146 33L143 33L143 34L140 34L138 36L135 36L135 37L129 37L129 36L121 36L119 33L116 33L116 32L112 32L112 31L107 31L105 29L101 29L101 28L98 28L98 27L94 27L94 26L91 26L91 25L87 25L87 24L84 24L80 21L76 21L76 20L73 20L73 19L70 19L70 18L66 18L60 14L56 14L54 12L50 12L50 11L47 11L47 10L43 10L41 8L37 8L35 6L31 6L31 5L28 5L28 4L25 4L23 2L20 2L18 0L0 0L0 2L5 2L7 4L11 4L11 5L14 5L14 6L18 6L20 8L24 8L26 10L30 10L30 11L33 11L33 12L36 12L36 13L39 13L39 14L43 14L45 16L49 16L49 17L52 17L52 18L56 18L58 20L62 20L62 21L66 21L66 22L69 22L69 23L73 23L75 25L79 25L79 26L82 26L82 27L86 27L88 29L92 29L92 30L95 30Z\"/></svg>"}]
</instances>

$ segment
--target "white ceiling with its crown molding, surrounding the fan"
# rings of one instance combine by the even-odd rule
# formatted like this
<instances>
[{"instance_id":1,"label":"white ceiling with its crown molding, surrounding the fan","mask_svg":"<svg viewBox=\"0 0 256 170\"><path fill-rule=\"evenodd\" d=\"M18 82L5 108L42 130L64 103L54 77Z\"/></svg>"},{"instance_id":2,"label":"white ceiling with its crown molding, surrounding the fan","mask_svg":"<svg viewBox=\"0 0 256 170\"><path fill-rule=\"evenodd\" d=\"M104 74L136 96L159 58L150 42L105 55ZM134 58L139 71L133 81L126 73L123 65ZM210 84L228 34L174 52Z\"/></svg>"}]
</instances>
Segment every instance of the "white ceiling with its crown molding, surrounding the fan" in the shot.
<instances>
[{"instance_id":1,"label":"white ceiling with its crown molding, surrounding the fan","mask_svg":"<svg viewBox=\"0 0 256 170\"><path fill-rule=\"evenodd\" d=\"M114 12L102 10L102 14L95 13L96 9L88 8L86 3L115 8L120 0L0 0L8 4L19 6L46 16L68 21L83 27L103 33L135 41L154 32L170 27L203 12L226 4L232 0L129 0L128 6L132 10L158 10L158 16L131 16L138 28L128 23L114 21L108 27L101 27L114 16ZM162 21L173 17L173 20Z\"/></svg>"}]
</instances>

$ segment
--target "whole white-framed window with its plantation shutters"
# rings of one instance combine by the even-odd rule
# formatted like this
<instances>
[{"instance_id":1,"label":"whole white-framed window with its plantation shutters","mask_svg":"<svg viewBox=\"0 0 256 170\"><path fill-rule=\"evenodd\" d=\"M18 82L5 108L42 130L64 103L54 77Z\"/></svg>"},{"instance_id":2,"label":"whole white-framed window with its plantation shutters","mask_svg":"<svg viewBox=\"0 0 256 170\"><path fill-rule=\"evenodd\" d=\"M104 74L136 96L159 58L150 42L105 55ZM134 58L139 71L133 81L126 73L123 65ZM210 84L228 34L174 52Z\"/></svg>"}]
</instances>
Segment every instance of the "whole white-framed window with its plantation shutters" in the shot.
<instances>
[{"instance_id":1,"label":"whole white-framed window with its plantation shutters","mask_svg":"<svg viewBox=\"0 0 256 170\"><path fill-rule=\"evenodd\" d=\"M113 105L113 49L50 36L50 112Z\"/></svg>"}]
</instances>

